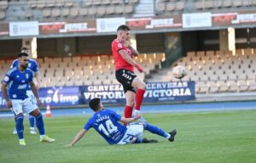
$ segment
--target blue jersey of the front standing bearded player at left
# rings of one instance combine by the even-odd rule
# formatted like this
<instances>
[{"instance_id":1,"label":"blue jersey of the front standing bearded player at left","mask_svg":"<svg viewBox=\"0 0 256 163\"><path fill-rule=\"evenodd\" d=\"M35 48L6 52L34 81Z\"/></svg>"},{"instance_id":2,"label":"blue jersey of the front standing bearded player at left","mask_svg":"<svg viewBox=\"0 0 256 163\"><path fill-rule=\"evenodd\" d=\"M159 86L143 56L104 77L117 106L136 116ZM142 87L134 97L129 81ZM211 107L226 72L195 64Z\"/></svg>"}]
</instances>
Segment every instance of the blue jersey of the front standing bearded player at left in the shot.
<instances>
[{"instance_id":1,"label":"blue jersey of the front standing bearded player at left","mask_svg":"<svg viewBox=\"0 0 256 163\"><path fill-rule=\"evenodd\" d=\"M3 78L3 82L9 85L9 98L10 99L26 99L26 90L29 82L33 79L32 70L26 69L20 71L17 66L10 69Z\"/></svg>"}]
</instances>

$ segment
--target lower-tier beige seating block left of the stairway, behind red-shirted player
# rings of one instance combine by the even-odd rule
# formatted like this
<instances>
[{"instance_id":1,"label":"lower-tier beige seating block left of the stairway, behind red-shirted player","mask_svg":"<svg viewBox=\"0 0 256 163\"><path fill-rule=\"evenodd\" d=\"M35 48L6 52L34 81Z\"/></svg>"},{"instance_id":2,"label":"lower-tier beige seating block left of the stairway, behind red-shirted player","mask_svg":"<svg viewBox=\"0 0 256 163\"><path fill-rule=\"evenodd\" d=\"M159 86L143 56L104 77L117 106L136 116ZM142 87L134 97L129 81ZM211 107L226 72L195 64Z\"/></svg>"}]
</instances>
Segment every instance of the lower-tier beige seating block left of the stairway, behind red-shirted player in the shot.
<instances>
[{"instance_id":1,"label":"lower-tier beige seating block left of the stairway, behind red-shirted player","mask_svg":"<svg viewBox=\"0 0 256 163\"><path fill-rule=\"evenodd\" d=\"M149 75L150 70L160 66L164 57L164 53L143 53L136 60L143 65L147 72L146 75ZM42 78L42 87L119 83L114 77L112 56L44 58L37 59L37 61ZM1 72L5 73L11 63L12 60L0 60ZM136 73L140 78L145 78L144 74L137 70Z\"/></svg>"}]
</instances>

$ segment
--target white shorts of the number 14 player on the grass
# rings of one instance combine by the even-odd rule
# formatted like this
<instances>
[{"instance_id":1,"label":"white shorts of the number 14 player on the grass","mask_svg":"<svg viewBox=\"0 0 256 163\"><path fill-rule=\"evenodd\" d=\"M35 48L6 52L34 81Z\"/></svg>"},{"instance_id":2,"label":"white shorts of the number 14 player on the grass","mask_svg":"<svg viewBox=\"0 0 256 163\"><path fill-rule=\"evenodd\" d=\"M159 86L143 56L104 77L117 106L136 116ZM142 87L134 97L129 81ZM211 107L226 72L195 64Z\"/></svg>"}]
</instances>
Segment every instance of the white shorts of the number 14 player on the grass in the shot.
<instances>
[{"instance_id":1,"label":"white shorts of the number 14 player on the grass","mask_svg":"<svg viewBox=\"0 0 256 163\"><path fill-rule=\"evenodd\" d=\"M126 127L127 131L125 132L124 137L117 144L132 143L133 138L143 137L143 123L131 123Z\"/></svg>"}]
</instances>

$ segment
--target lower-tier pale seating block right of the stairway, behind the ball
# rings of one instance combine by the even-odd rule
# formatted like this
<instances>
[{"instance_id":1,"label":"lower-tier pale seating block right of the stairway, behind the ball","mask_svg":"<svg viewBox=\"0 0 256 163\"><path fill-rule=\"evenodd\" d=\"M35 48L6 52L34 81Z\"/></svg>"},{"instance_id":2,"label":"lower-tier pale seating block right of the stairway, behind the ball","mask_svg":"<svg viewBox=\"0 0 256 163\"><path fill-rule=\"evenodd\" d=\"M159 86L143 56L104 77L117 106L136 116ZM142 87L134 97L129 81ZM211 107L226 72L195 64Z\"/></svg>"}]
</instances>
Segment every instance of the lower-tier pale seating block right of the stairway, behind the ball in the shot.
<instances>
[{"instance_id":1,"label":"lower-tier pale seating block right of the stairway, behind the ball","mask_svg":"<svg viewBox=\"0 0 256 163\"><path fill-rule=\"evenodd\" d=\"M195 81L196 93L253 92L256 90L255 49L189 52L173 65L184 65L183 81ZM148 82L178 81L172 77L172 67L151 75Z\"/></svg>"}]
</instances>

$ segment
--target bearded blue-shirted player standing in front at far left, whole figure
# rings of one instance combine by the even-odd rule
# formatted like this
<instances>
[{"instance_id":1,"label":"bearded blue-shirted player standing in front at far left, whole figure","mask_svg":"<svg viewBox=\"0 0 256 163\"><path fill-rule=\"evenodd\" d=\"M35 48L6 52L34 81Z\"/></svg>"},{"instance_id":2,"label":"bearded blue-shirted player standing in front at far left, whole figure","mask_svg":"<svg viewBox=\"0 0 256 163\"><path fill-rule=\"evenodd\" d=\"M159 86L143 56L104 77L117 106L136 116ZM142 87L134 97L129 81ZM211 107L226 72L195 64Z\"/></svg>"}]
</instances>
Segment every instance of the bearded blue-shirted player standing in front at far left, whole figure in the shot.
<instances>
[{"instance_id":1,"label":"bearded blue-shirted player standing in front at far left, whole figure","mask_svg":"<svg viewBox=\"0 0 256 163\"><path fill-rule=\"evenodd\" d=\"M7 106L15 113L16 129L20 139L20 145L26 145L24 139L23 112L31 114L36 118L36 125L38 127L41 142L54 142L55 139L45 135L43 115L38 109L38 105L34 104L34 101L28 98L26 94L27 85L30 85L37 103L42 104L38 97L37 87L32 80L34 74L32 70L27 69L29 61L28 54L19 53L18 61L19 65L10 69L4 76L1 88ZM9 93L7 93L7 87L9 87Z\"/></svg>"}]
</instances>

